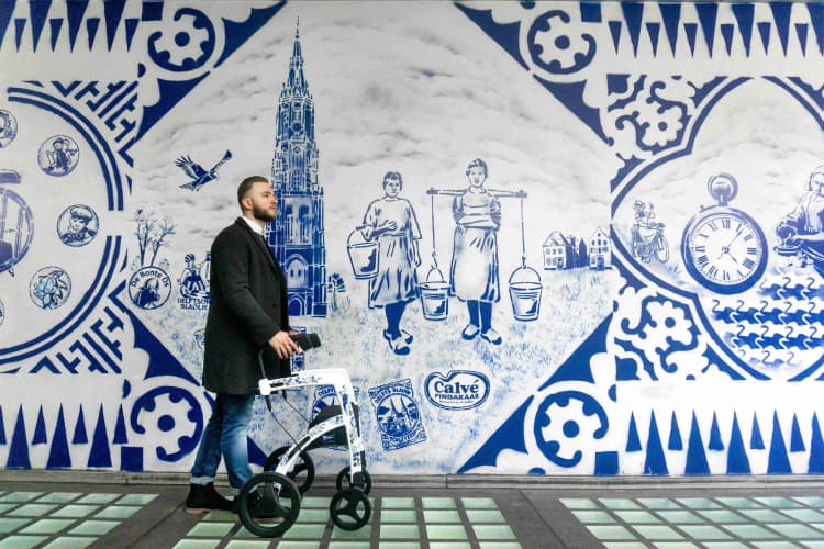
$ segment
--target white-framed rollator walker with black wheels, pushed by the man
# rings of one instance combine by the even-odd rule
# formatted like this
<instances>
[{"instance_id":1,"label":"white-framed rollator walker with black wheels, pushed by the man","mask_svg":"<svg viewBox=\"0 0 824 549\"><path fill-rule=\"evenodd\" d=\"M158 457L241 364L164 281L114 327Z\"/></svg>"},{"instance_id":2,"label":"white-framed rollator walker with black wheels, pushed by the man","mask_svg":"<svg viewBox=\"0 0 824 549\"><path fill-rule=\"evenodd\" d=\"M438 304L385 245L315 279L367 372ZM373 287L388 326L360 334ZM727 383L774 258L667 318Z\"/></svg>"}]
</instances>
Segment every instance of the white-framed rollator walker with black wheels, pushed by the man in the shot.
<instances>
[{"instance_id":1,"label":"white-framed rollator walker with black wheels, pushed by the man","mask_svg":"<svg viewBox=\"0 0 824 549\"><path fill-rule=\"evenodd\" d=\"M260 369L264 371L263 361ZM301 371L278 379L267 379L264 371L258 393L266 397L271 412L272 393L314 385L332 385L339 405L322 408L309 422L305 433L298 439L293 438L292 446L271 452L264 472L252 477L237 495L241 522L256 536L281 536L294 524L300 514L301 496L314 481L314 462L309 450L324 446L346 445L349 451L349 464L337 474L337 492L330 502L332 522L344 530L356 530L371 516L368 497L371 479L366 471L355 391L346 370Z\"/></svg>"}]
</instances>

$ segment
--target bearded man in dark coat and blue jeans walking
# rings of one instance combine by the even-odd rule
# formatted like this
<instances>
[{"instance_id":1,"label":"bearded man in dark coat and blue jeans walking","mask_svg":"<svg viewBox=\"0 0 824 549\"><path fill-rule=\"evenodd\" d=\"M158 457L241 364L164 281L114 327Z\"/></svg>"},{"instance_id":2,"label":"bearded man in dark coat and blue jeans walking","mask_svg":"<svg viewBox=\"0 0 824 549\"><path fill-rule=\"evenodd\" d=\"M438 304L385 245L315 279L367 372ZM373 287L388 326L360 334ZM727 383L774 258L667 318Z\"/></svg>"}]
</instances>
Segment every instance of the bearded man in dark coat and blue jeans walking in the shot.
<instances>
[{"instance_id":1,"label":"bearded man in dark coat and blue jeans walking","mask_svg":"<svg viewBox=\"0 0 824 549\"><path fill-rule=\"evenodd\" d=\"M289 336L286 278L264 238L278 202L261 176L237 188L243 215L221 231L211 248L211 301L205 327L203 386L216 393L191 469L189 513L234 511L214 489L221 456L236 494L252 478L246 436L263 354L267 378L289 376L300 347Z\"/></svg>"}]
</instances>

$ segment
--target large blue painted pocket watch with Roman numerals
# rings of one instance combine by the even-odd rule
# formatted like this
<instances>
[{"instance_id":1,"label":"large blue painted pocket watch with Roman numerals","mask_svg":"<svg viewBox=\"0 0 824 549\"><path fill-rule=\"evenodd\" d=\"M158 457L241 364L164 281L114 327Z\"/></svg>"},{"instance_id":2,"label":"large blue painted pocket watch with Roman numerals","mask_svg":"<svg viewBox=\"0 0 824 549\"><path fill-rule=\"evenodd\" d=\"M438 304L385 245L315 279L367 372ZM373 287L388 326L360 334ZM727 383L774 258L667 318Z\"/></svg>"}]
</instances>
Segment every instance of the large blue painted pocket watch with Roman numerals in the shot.
<instances>
[{"instance_id":1,"label":"large blue painted pocket watch with Roman numerals","mask_svg":"<svg viewBox=\"0 0 824 549\"><path fill-rule=\"evenodd\" d=\"M753 217L728 205L738 193L732 176L713 176L706 188L717 205L702 209L683 229L683 262L704 288L715 293L741 293L764 274L767 239Z\"/></svg>"}]
</instances>

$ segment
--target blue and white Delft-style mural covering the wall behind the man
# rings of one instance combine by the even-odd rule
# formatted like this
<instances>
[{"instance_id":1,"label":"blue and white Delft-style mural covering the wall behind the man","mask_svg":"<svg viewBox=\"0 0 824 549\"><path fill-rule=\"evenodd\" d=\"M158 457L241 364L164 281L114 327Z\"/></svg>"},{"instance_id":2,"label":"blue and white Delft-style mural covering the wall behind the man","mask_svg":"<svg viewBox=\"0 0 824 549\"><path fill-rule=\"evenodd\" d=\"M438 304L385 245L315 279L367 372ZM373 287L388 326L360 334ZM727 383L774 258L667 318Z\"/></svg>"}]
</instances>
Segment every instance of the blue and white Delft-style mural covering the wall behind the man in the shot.
<instances>
[{"instance_id":1,"label":"blue and white Delft-style mural covering the wall behind the man","mask_svg":"<svg viewBox=\"0 0 824 549\"><path fill-rule=\"evenodd\" d=\"M821 473L822 57L816 2L4 2L0 467L188 470L257 173L370 472Z\"/></svg>"}]
</instances>

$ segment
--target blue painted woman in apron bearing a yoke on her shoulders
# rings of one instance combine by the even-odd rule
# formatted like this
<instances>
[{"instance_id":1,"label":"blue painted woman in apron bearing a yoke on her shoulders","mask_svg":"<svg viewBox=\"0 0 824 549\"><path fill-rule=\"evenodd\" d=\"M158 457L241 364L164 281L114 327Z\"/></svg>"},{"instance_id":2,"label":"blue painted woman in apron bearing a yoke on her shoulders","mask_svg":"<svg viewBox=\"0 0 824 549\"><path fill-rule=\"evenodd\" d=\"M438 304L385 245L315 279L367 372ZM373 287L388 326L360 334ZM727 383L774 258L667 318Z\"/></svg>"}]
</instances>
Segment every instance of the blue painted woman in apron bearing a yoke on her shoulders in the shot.
<instances>
[{"instance_id":1,"label":"blue painted woman in apron bearing a yoke on her shoulders","mask_svg":"<svg viewBox=\"0 0 824 549\"><path fill-rule=\"evenodd\" d=\"M489 170L487 163L476 158L466 169L469 187L453 200L455 240L450 269L450 291L465 301L469 323L461 332L464 339L480 334L492 345L501 336L492 328L492 303L501 299L498 277L498 228L501 203L483 187Z\"/></svg>"}]
</instances>

